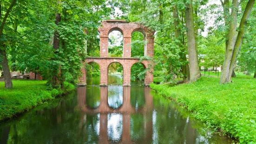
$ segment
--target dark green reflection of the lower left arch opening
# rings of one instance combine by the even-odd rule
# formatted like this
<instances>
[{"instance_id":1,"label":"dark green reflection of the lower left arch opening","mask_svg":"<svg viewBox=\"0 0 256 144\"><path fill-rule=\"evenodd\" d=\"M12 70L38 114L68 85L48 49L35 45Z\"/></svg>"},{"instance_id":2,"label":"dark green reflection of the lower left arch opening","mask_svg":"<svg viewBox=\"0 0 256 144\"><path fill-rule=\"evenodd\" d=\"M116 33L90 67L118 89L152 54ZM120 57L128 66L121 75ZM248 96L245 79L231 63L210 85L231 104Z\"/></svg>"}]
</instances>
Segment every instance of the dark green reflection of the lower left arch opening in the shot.
<instances>
[{"instance_id":1,"label":"dark green reflection of the lower left arch opening","mask_svg":"<svg viewBox=\"0 0 256 144\"><path fill-rule=\"evenodd\" d=\"M86 86L86 105L89 108L97 108L100 105L99 86Z\"/></svg>"}]
</instances>

